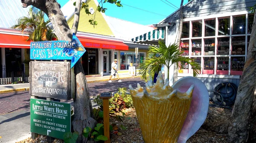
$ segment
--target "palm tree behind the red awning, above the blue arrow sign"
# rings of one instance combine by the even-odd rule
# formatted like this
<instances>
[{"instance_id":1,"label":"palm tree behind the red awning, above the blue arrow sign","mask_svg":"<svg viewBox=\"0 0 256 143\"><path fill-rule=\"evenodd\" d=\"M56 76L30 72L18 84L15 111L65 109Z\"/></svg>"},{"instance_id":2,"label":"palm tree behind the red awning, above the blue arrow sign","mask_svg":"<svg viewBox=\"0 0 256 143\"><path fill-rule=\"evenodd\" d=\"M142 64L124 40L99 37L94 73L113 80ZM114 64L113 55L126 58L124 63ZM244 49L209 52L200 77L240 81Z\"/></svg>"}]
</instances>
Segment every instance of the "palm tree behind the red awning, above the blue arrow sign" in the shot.
<instances>
[{"instance_id":1,"label":"palm tree behind the red awning, above the blue arrow sign","mask_svg":"<svg viewBox=\"0 0 256 143\"><path fill-rule=\"evenodd\" d=\"M35 7L29 9L28 17L20 17L17 25L13 25L12 28L24 31L32 31L29 34L27 40L32 41L50 41L57 36L53 33L53 30L47 25L50 20L44 21L44 12L38 10Z\"/></svg>"}]
</instances>

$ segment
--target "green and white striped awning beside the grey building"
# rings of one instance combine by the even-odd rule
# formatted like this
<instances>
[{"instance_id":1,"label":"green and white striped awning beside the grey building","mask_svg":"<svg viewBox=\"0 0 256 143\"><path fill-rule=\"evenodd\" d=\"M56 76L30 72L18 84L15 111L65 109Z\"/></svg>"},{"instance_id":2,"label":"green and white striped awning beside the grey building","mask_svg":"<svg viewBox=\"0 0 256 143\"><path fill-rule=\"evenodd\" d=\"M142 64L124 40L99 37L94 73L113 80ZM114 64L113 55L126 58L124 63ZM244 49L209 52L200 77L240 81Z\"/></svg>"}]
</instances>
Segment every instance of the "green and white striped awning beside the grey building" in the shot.
<instances>
[{"instance_id":1,"label":"green and white striped awning beside the grey building","mask_svg":"<svg viewBox=\"0 0 256 143\"><path fill-rule=\"evenodd\" d=\"M158 40L158 39L164 39L164 27L157 28L153 31L149 31L145 34L142 34L140 36L137 36L135 38L132 38L132 42L139 42L139 41L152 41L152 40Z\"/></svg>"}]
</instances>

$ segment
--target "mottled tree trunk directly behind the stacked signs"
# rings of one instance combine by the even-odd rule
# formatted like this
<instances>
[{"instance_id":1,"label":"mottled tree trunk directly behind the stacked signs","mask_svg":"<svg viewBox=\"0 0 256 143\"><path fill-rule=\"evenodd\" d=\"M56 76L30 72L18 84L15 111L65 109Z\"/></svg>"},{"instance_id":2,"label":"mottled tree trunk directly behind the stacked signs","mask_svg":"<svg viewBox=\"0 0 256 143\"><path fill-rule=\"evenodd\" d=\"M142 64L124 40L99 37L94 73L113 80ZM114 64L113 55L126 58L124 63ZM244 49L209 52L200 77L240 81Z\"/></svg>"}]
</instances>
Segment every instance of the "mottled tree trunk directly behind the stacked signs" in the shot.
<instances>
[{"instance_id":1,"label":"mottled tree trunk directly behind the stacked signs","mask_svg":"<svg viewBox=\"0 0 256 143\"><path fill-rule=\"evenodd\" d=\"M23 7L35 6L36 8L44 11L52 22L55 34L59 40L71 41L73 33L67 25L67 21L60 9L59 3L56 0L21 0ZM81 3L81 0L77 0L77 3ZM80 7L80 4L77 4ZM78 11L79 10L79 11ZM79 20L80 8L76 8L76 20ZM75 19L75 18L74 18ZM78 21L73 26L78 27ZM73 32L76 33L76 28L73 28ZM73 130L79 132L77 143L86 143L82 133L86 126L90 126L92 129L96 124L96 121L92 117L92 104L90 101L89 90L87 81L84 76L84 70L81 62L77 62L74 66L75 71L75 83L76 83L76 95L74 98L74 113L75 117L72 121Z\"/></svg>"}]
</instances>

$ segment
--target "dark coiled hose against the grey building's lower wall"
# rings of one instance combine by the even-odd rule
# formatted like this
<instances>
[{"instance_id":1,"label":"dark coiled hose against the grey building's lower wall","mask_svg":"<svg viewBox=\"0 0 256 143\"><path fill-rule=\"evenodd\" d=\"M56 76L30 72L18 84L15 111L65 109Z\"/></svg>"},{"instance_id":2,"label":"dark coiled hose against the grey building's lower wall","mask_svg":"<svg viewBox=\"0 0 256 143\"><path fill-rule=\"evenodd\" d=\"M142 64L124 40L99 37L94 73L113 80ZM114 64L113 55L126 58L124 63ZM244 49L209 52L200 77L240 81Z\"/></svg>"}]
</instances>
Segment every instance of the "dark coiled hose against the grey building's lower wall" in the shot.
<instances>
[{"instance_id":1,"label":"dark coiled hose against the grey building's lower wall","mask_svg":"<svg viewBox=\"0 0 256 143\"><path fill-rule=\"evenodd\" d=\"M236 84L224 82L218 84L212 92L211 100L215 104L210 104L213 107L231 107L236 101L237 87Z\"/></svg>"}]
</instances>

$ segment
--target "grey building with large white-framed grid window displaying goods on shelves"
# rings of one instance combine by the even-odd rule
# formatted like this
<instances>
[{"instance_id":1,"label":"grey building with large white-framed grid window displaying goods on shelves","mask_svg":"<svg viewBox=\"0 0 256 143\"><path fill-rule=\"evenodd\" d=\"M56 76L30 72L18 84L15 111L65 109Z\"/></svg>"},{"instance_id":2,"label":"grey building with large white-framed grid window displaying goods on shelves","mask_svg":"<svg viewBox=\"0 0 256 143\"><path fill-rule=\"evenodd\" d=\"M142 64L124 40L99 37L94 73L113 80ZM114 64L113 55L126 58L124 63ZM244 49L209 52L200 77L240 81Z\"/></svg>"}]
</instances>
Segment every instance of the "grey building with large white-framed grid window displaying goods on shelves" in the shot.
<instances>
[{"instance_id":1,"label":"grey building with large white-framed grid window displaying goods on shelves","mask_svg":"<svg viewBox=\"0 0 256 143\"><path fill-rule=\"evenodd\" d=\"M183 6L180 49L201 64L198 78L208 90L223 82L239 85L253 26L248 10L255 4L256 0L191 0ZM177 40L178 23L179 10L155 25L167 29L167 45ZM192 76L191 66L182 64L178 79Z\"/></svg>"}]
</instances>

